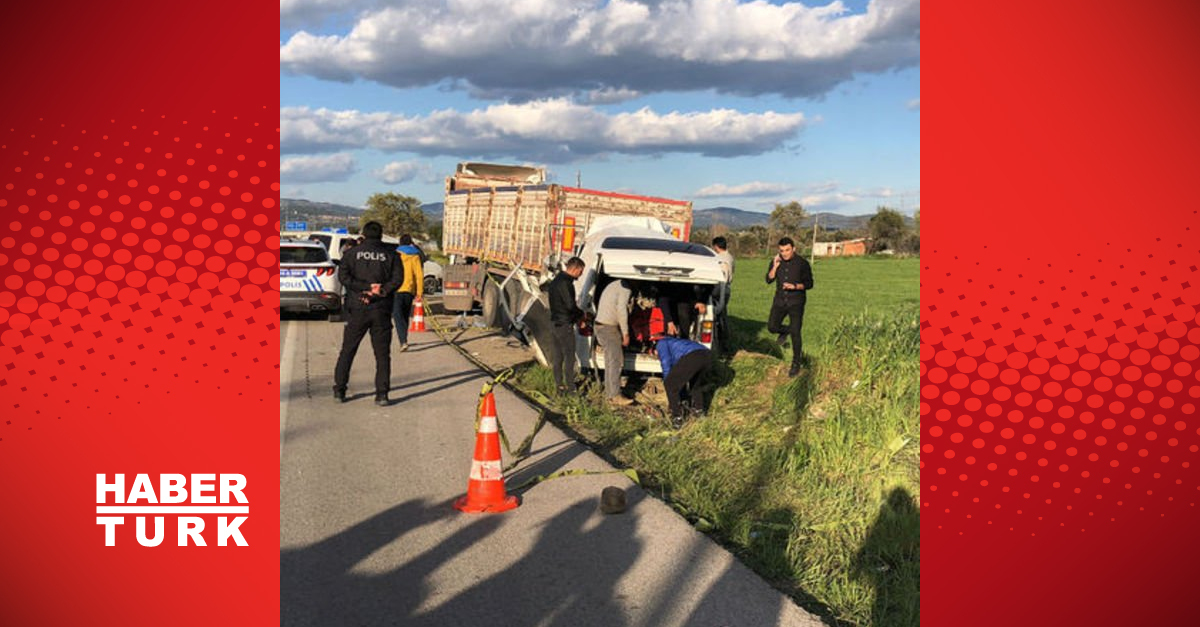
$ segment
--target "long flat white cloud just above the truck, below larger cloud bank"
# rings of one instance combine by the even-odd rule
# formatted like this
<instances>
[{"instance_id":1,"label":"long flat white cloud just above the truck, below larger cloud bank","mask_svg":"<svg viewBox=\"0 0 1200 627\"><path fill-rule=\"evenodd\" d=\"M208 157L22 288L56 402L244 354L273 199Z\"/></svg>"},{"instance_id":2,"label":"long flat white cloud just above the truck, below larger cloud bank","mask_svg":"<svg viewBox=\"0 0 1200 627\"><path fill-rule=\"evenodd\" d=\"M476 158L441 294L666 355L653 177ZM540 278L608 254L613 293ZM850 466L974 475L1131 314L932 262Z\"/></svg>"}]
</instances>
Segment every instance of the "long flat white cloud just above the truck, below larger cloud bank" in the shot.
<instances>
[{"instance_id":1,"label":"long flat white cloud just above the truck, below larger cloud bank","mask_svg":"<svg viewBox=\"0 0 1200 627\"><path fill-rule=\"evenodd\" d=\"M606 153L756 155L794 138L804 127L804 114L649 108L608 114L554 98L428 115L283 107L280 124L281 147L288 153L371 148L562 163Z\"/></svg>"}]
</instances>

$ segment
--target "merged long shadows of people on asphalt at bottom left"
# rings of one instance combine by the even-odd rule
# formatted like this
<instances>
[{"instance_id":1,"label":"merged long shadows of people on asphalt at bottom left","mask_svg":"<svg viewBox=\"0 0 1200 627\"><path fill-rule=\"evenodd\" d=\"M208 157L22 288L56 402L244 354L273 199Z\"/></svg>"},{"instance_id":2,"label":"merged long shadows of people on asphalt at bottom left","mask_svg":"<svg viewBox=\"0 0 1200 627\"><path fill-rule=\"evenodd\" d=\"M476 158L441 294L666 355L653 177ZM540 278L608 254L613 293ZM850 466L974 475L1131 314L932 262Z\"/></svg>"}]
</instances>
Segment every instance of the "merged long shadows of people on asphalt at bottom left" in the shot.
<instances>
[{"instance_id":1,"label":"merged long shadows of people on asphalt at bottom left","mask_svg":"<svg viewBox=\"0 0 1200 627\"><path fill-rule=\"evenodd\" d=\"M640 490L634 492L630 507L642 498ZM641 554L641 542L632 516L592 524L592 500L545 522L534 548L515 563L427 611L420 610L422 603L439 596L431 575L486 543L504 516L473 519L392 571L356 572L360 562L407 533L458 515L449 502L408 501L311 547L281 550L281 625L626 625L624 599L614 589Z\"/></svg>"}]
</instances>

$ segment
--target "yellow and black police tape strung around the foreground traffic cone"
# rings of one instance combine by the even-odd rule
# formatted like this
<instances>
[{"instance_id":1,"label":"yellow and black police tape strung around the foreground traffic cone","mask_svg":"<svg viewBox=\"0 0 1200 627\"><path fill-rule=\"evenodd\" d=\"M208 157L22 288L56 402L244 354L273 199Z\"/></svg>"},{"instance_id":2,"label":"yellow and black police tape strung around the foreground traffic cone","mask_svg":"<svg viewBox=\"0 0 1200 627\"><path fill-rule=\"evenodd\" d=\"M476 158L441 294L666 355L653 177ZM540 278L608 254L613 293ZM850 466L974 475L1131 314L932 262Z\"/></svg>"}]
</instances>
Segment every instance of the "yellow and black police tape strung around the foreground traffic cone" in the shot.
<instances>
[{"instance_id":1,"label":"yellow and black police tape strung around the foreground traffic cone","mask_svg":"<svg viewBox=\"0 0 1200 627\"><path fill-rule=\"evenodd\" d=\"M475 404L475 429L476 430L479 429L479 422L482 419L482 416L484 416L484 399L488 394L491 394L492 390L497 386L504 386L504 387L506 387L514 394L517 394L518 396L523 396L530 405L534 405L534 406L538 407L538 422L534 423L533 431L530 431L529 435L526 436L524 440L521 441L521 443L517 446L516 449L514 449L512 446L509 443L509 436L504 432L504 424L500 422L499 417L497 417L497 419L496 419L497 431L499 431L499 434L500 434L500 443L504 446L504 450L508 452L509 458L511 459L511 461L509 462L509 465L504 466L504 468L503 468L503 472L506 474L509 471L514 470L518 464L521 464L522 461L524 461L529 456L530 449L533 448L533 441L534 441L534 438L541 431L542 426L545 426L546 423L548 422L548 414L550 414L550 412L547 410L547 406L550 405L550 399L547 399L545 395L542 395L539 392L535 392L535 390L523 390L523 389L514 387L511 383L508 383L508 381L510 378L512 378L512 376L515 375L515 371L511 368L506 368L506 369L497 372L491 366L488 366L487 364L485 364L482 360L480 360L480 359L475 358L475 356L470 354L469 351L467 351L462 346L458 346L457 344L455 344L454 340L449 335L449 333L450 333L449 329L446 329L445 327L442 326L442 323L440 323L440 321L438 321L437 316L430 315L428 320L430 320L431 326L433 327L433 333L438 334L438 336L442 338L442 341L444 341L448 345L450 345L450 347L452 347L455 351L457 351L458 354L463 356L464 358L467 358L468 362L470 362L476 368L479 368L484 372L487 372L488 376L491 376L491 380L485 381L484 384L480 387L480 390L479 390L479 401ZM529 478L529 479L527 479L524 482L521 482L517 485L510 486L509 490L511 490L511 491L524 490L524 489L528 489L528 488L533 488L534 485L538 485L539 483L547 482L547 480L551 480L551 479L558 479L560 477L580 477L580 476L586 476L586 474L618 474L618 473L619 474L624 474L625 477L629 477L630 480L632 480L634 483L636 483L638 485L641 485L641 483L642 483L641 479L637 476L637 471L635 471L634 468L620 468L620 470L611 470L611 471L589 471L589 470L584 470L584 468L572 468L572 470L562 470L562 471L552 472L550 474L538 474L538 476L532 477L532 478Z\"/></svg>"}]
</instances>

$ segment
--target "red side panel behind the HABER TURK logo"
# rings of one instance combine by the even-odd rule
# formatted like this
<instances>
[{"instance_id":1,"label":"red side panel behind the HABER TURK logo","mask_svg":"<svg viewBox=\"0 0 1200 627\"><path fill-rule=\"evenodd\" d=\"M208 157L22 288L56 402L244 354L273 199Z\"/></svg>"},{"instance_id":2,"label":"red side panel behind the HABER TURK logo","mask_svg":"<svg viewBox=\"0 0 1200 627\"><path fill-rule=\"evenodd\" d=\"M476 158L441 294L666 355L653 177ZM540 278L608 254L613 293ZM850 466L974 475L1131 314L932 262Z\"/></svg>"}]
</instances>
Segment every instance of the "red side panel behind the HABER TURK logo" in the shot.
<instances>
[{"instance_id":1,"label":"red side panel behind the HABER TURK logo","mask_svg":"<svg viewBox=\"0 0 1200 627\"><path fill-rule=\"evenodd\" d=\"M275 7L0 13L4 621L277 622ZM244 474L248 547L106 547L97 473Z\"/></svg>"}]
</instances>

